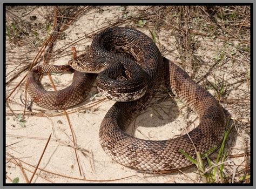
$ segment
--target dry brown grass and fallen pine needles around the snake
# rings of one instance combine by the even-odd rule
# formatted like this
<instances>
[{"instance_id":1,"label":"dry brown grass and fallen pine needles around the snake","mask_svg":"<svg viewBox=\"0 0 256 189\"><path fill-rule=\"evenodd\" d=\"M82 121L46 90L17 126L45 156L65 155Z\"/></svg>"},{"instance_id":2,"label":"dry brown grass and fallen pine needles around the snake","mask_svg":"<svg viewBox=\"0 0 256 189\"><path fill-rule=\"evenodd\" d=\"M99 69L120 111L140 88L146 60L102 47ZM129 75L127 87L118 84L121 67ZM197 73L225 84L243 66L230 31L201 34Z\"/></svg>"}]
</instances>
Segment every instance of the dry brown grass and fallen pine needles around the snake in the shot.
<instances>
[{"instance_id":1,"label":"dry brown grass and fallen pine needles around the snake","mask_svg":"<svg viewBox=\"0 0 256 189\"><path fill-rule=\"evenodd\" d=\"M40 6L7 7L5 83L8 105L6 105L6 116L17 117L18 114L24 116L32 114L33 116L51 117L65 114L65 112L45 112L43 109L33 109L32 112L26 110L25 105L30 105L30 102L26 102L24 73L26 74L32 66L39 62L43 61L44 64L48 64L50 61L65 56L66 53L71 55L71 46L79 44L86 38L92 38L99 32L100 30L95 30L87 33L84 37L77 38L72 43L53 50L56 41L66 38L65 30L69 27L75 28L74 23L79 17L86 15L87 11L91 9L98 12L108 10L104 6L49 7L51 11L47 12L43 11ZM225 177L217 178L215 182L250 183L248 177L251 174L250 6L142 6L134 8L133 11L127 6L120 6L117 9L121 11L118 16L105 19L105 24L127 25L148 31L163 55L181 66L199 85L210 91L231 114L234 120L234 129L231 132L232 137L227 142L225 159L231 160L233 163L224 165ZM29 21L24 19L28 15ZM104 25L104 22L102 24ZM104 28L105 26L101 29ZM54 83L60 87L64 86L58 82ZM22 91L23 95L20 97L22 100L17 97L12 98L17 91ZM157 97L157 103L154 102L151 107L161 118L161 114L166 114L165 109L169 108L165 103L170 100L170 97L163 90L159 91ZM66 116L81 110L91 110L103 100L67 110ZM20 108L12 109L13 105ZM187 109L186 111L190 112ZM241 138L241 145L234 146L238 136ZM76 151L75 140L73 138L72 147ZM8 148L6 147L6 151ZM6 166L9 164L19 165L16 160L22 162L23 166L26 165L25 161L11 157L9 154L6 154L6 157L6 161L8 161ZM93 161L93 156L90 157ZM241 164L235 164L235 158L243 158ZM79 165L79 158L77 161ZM19 167L23 166L19 165ZM93 167L93 165L91 166ZM31 169L31 167L33 166L30 165L29 168ZM22 172L24 172L23 169ZM41 173L39 172L37 175L40 176ZM82 173L80 174L82 176ZM25 177L24 174L23 177ZM12 180L8 173L6 178ZM81 179L84 179L83 176ZM193 180L193 182L197 181L200 181L200 178Z\"/></svg>"}]
</instances>

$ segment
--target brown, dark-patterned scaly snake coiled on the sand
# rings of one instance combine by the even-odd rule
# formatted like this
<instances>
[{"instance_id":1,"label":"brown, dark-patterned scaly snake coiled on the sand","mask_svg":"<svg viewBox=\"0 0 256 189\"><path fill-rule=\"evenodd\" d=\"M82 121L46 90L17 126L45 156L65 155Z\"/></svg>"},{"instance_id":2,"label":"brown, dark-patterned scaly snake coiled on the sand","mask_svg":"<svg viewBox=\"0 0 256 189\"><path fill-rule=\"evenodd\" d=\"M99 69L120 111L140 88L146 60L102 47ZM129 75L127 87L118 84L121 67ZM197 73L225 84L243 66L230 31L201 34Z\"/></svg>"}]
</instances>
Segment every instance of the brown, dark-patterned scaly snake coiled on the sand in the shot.
<instances>
[{"instance_id":1,"label":"brown, dark-patterned scaly snake coiled on the sand","mask_svg":"<svg viewBox=\"0 0 256 189\"><path fill-rule=\"evenodd\" d=\"M107 111L99 127L100 145L119 164L150 173L174 172L193 165L181 150L197 159L198 153L217 149L223 140L226 129L223 107L183 69L161 55L157 45L143 32L120 26L107 28L95 35L89 52L73 58L66 66L76 70L69 86L71 89L59 93L45 91L35 75L55 71L57 67L44 65L29 71L26 85L30 96L38 105L47 108L70 107L84 100L91 87L88 82L98 74L99 91L116 101L123 98ZM137 71L142 76L137 76ZM139 78L134 78L136 76ZM114 86L110 86L112 84ZM160 85L166 86L197 114L199 125L182 136L167 140L130 136L126 128L149 105ZM107 92L109 87L111 94ZM131 93L127 92L129 90ZM46 97L46 93L51 93L51 97Z\"/></svg>"}]
</instances>

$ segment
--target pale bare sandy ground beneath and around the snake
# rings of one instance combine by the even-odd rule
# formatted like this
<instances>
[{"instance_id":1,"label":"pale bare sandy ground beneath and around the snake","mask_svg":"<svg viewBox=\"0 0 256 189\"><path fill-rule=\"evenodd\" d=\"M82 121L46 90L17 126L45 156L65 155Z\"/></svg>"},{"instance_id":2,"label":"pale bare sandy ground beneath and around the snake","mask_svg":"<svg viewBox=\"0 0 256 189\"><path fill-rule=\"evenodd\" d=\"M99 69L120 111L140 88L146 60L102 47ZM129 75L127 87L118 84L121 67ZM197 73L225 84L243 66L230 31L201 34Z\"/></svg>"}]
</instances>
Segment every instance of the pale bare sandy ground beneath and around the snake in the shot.
<instances>
[{"instance_id":1,"label":"pale bare sandy ground beneath and around the snake","mask_svg":"<svg viewBox=\"0 0 256 189\"><path fill-rule=\"evenodd\" d=\"M124 13L121 6L104 6L102 8L92 8L86 10L82 16L77 18L68 29L65 30L62 38L56 41L53 46L53 58L50 59L49 64L66 64L71 59L71 46L76 46L78 55L86 49L86 45L90 45L92 38L85 37L91 32L101 29L103 26L117 21L122 18L124 14L136 14L139 9L145 7L128 7ZM22 17L23 20L28 21L31 25L45 24L47 21L46 15L52 12L52 7L38 7L38 8L14 8L10 9L16 15L24 15L24 12L30 14ZM8 16L11 15L8 12ZM36 19L31 20L31 16L36 16ZM118 25L134 25L132 22L126 22ZM42 27L43 28L43 27ZM143 31L151 36L149 29L146 27L135 26L136 29ZM159 46L163 55L173 60L178 65L183 66L188 73L192 69L190 59L186 59L186 65L180 64L179 51L175 37L170 35L172 29L161 29L158 32L157 45ZM42 33L38 32L38 39L45 39L45 28ZM223 49L224 42L219 38L203 38L197 36L198 49L197 55L205 62L197 72L198 81L201 76L204 76L206 71L214 64L213 59L218 55L220 49ZM32 37L28 37L28 40ZM77 40L82 39L82 40ZM73 44L76 42L75 44ZM231 41L235 44L237 41ZM30 44L30 43L29 43ZM10 40L6 41L6 94L9 95L19 81L26 75L26 71L18 74L14 80L9 82L9 79L17 74L17 70L25 65L30 65L36 53L40 49L35 48L36 42L30 45L13 45ZM233 46L225 46L225 51L232 51ZM63 50L63 51L60 51ZM172 53L170 53L172 52ZM239 59L239 58L238 58ZM242 59L242 57L241 57ZM219 66L211 71L207 77L210 82L214 82L215 78L225 77L228 83L235 83L234 76L240 77L240 74L250 72L250 65L237 64L238 60L232 59L224 65L225 68ZM39 59L38 64L42 64L43 60ZM234 71L234 74L231 71ZM228 74L230 73L230 75ZM191 75L191 74L190 74ZM250 77L250 75L249 75ZM55 74L52 75L57 89L62 89L69 85L72 80L70 74ZM249 78L250 79L250 78ZM48 90L53 90L49 78L43 77L42 83ZM203 82L200 85L206 85ZM230 96L235 99L249 98L245 96L242 91L247 91L248 86L246 82L239 85L237 89L231 89ZM209 86L206 89L214 96L216 92ZM32 104L30 110L25 110L22 120L19 119L19 114L24 111L25 99L25 83L15 90L8 99L6 104L6 182L11 183L16 177L19 178L19 183L25 183L26 177L30 180L32 172L38 163L39 158L43 152L46 142L51 134L51 139L45 150L44 156L39 164L32 183L197 183L201 182L198 177L196 167L192 167L184 172L170 173L170 174L148 174L138 172L130 168L119 165L114 162L103 151L99 144L98 132L99 126L102 122L105 113L114 102L105 99L102 95L97 93L96 86L92 91L86 102L77 105L72 109L68 109L68 117L72 125L75 142L73 143L72 133L70 130L68 119L63 111L50 111L42 109L35 103ZM31 100L29 95L28 100ZM27 102L30 105L30 101ZM238 106L239 106L238 101ZM235 119L240 122L235 125L235 130L232 131L228 138L227 151L231 155L243 154L246 150L250 152L250 112L244 111L243 114L237 114L242 109L232 104L222 104ZM13 111L13 112L12 112ZM15 113L15 115L14 115ZM18 118L17 118L18 117ZM23 122L23 124L21 123ZM126 131L129 134L138 138L160 140L170 139L185 133L187 125L188 130L192 130L199 123L196 114L191 112L182 102L177 98L170 98L168 93L161 87L156 98L150 104L150 107L145 110ZM242 127L244 126L244 127ZM77 151L77 157L75 149ZM213 157L216 154L213 154ZM78 159L78 161L77 161ZM234 166L245 167L250 160L244 156L228 158L230 163L226 164L227 173L234 170ZM79 166L80 172L79 173ZM250 165L249 165L250 166ZM21 167L24 167L22 170ZM129 178L126 178L129 177ZM123 179L122 179L123 178ZM118 180L114 180L118 179Z\"/></svg>"}]
</instances>

